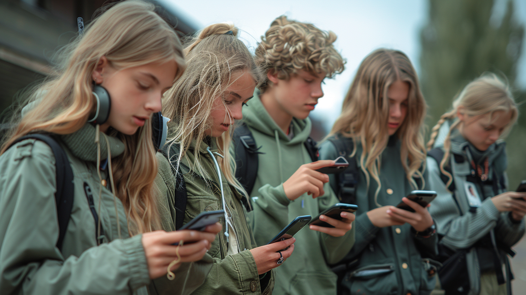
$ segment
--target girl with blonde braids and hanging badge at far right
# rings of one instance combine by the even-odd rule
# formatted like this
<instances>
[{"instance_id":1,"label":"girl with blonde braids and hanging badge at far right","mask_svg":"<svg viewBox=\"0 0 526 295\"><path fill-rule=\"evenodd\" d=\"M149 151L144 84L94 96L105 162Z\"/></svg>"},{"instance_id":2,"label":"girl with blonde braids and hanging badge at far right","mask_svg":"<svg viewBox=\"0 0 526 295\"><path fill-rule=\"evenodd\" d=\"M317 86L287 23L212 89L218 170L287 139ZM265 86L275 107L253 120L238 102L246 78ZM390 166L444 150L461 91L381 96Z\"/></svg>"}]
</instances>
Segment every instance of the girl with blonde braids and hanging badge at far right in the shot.
<instances>
[{"instance_id":1,"label":"girl with blonde braids and hanging badge at far right","mask_svg":"<svg viewBox=\"0 0 526 295\"><path fill-rule=\"evenodd\" d=\"M446 294L459 287L463 294L511 292L507 253L524 235L526 192L508 191L501 138L518 115L509 87L486 74L464 87L432 129L429 155L440 156L427 158L430 187L438 193L430 212L443 235L441 255L466 259L440 273ZM450 282L452 275L458 279Z\"/></svg>"}]
</instances>

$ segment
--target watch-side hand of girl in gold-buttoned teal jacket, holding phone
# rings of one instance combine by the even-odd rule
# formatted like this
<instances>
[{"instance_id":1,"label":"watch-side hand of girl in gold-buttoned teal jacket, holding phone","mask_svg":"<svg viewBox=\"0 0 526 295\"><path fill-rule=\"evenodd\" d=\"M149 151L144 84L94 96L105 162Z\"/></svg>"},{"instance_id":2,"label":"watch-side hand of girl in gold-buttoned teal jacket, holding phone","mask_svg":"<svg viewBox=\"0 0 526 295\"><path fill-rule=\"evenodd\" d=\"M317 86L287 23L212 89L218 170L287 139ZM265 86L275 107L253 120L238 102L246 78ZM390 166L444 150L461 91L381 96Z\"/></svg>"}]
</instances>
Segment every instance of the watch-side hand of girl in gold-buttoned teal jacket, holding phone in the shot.
<instances>
[{"instance_id":1,"label":"watch-side hand of girl in gold-buttoned teal jacket, holding phone","mask_svg":"<svg viewBox=\"0 0 526 295\"><path fill-rule=\"evenodd\" d=\"M410 212L404 209L397 208L395 206L388 206L389 210L387 213L393 219L409 223L416 231L424 231L433 225L433 218L427 210L431 204L426 207L420 206L417 202L413 202L407 197L403 197L402 201L414 209L414 212Z\"/></svg>"}]
</instances>

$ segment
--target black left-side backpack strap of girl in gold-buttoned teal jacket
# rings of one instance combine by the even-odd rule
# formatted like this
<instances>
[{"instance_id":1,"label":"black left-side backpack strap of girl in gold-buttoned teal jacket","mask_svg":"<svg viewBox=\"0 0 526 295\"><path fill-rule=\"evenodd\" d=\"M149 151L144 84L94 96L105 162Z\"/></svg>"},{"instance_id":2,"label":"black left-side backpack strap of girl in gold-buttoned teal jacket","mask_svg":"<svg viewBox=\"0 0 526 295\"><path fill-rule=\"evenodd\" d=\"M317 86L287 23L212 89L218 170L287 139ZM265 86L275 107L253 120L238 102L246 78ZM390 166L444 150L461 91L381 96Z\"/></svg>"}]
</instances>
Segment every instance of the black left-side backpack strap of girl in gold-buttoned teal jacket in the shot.
<instances>
[{"instance_id":1,"label":"black left-side backpack strap of girl in gold-buttoned teal jacket","mask_svg":"<svg viewBox=\"0 0 526 295\"><path fill-rule=\"evenodd\" d=\"M345 157L349 166L338 175L338 191L336 192L340 201L347 204L356 204L356 186L360 177L356 158L349 158L354 149L352 138L340 135L332 136L328 140L336 147L338 156Z\"/></svg>"}]
</instances>

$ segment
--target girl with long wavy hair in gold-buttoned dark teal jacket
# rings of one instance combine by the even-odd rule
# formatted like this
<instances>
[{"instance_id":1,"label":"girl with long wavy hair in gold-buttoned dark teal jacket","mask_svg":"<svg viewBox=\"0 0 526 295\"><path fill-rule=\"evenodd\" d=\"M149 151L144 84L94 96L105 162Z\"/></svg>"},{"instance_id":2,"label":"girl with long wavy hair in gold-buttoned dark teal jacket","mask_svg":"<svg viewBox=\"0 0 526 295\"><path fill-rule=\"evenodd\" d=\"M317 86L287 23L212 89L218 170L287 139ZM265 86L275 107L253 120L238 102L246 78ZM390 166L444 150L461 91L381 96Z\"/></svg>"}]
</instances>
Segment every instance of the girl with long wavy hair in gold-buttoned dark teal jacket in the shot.
<instances>
[{"instance_id":1,"label":"girl with long wavy hair in gold-buttoned dark teal jacket","mask_svg":"<svg viewBox=\"0 0 526 295\"><path fill-rule=\"evenodd\" d=\"M356 162L356 241L346 257L342 294L429 294L435 285L427 259L437 251L437 235L427 208L406 198L423 189L426 102L409 58L378 49L362 60L328 139L353 146ZM321 159L339 156L324 141ZM330 185L341 196L339 178ZM396 208L400 201L414 212ZM370 271L374 270L374 271Z\"/></svg>"}]
</instances>

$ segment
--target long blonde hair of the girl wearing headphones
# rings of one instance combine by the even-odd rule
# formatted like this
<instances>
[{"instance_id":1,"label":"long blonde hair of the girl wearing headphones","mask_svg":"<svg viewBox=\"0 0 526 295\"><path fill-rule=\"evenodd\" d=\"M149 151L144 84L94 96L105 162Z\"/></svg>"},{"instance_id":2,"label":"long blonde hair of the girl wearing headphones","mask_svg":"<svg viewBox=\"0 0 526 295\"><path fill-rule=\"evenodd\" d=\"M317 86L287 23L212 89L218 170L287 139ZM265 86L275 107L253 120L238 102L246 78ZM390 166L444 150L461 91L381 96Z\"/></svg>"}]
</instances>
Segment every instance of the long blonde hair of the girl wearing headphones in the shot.
<instances>
[{"instance_id":1,"label":"long blonde hair of the girl wearing headphones","mask_svg":"<svg viewBox=\"0 0 526 295\"><path fill-rule=\"evenodd\" d=\"M84 35L68 45L63 62L31 100L36 104L8 135L2 154L16 138L44 131L72 134L83 127L94 109L92 73L105 56L117 69L175 60L176 79L185 68L182 46L155 6L143 1L115 4L86 26ZM157 174L156 150L151 144L151 124L131 136L112 132L123 141L125 151L114 161L114 194L127 210L130 235L160 228L154 196Z\"/></svg>"}]
</instances>

